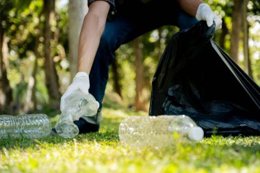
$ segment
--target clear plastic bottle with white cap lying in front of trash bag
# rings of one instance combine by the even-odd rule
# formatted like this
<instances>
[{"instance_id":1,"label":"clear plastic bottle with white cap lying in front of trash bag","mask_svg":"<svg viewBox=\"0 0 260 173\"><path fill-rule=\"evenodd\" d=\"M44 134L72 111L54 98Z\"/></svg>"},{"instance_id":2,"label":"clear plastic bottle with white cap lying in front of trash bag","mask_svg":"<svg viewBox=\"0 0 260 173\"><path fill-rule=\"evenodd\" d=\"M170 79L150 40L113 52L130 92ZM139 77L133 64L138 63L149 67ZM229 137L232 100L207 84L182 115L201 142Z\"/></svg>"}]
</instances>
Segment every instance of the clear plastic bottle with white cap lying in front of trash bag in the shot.
<instances>
[{"instance_id":1,"label":"clear plastic bottle with white cap lying in front of trash bag","mask_svg":"<svg viewBox=\"0 0 260 173\"><path fill-rule=\"evenodd\" d=\"M176 140L200 141L204 133L189 116L130 116L120 122L118 135L133 148L161 148Z\"/></svg>"}]
</instances>

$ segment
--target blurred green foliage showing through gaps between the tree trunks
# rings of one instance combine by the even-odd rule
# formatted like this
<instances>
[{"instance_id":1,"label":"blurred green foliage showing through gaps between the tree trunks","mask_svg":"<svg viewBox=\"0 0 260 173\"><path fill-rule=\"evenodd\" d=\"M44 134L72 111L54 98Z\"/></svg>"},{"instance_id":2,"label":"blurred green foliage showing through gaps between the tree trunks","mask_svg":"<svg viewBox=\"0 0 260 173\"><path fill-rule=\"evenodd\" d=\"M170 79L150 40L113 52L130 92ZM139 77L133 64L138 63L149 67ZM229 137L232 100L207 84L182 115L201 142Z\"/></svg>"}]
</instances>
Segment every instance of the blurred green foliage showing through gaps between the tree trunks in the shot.
<instances>
[{"instance_id":1,"label":"blurred green foliage showing through gaps between the tree trunks","mask_svg":"<svg viewBox=\"0 0 260 173\"><path fill-rule=\"evenodd\" d=\"M34 67L34 62L38 61L37 83L36 83L36 96L38 111L47 109L44 107L49 102L46 86L44 83L44 51L42 34L44 16L42 16L43 8L42 0L0 0L0 20L1 27L5 31L5 36L8 37L9 48L9 68L8 79L10 85L14 90L14 103L23 104L27 90L27 83L29 76ZM224 51L229 53L230 38L232 28L232 14L233 14L233 1L224 0L205 0L211 9L218 14L226 23L229 30L225 37ZM248 20L250 27L250 57L252 60L252 70L255 81L260 85L260 61L259 61L259 1L251 0L248 3ZM52 22L51 29L53 35L57 38L51 41L52 56L55 61L57 73L60 78L60 90L63 93L69 85L69 70L70 64L68 61L68 5L57 8L56 20ZM142 36L143 46L143 63L144 63L144 83L146 90L151 91L151 81L157 64L164 52L166 45L170 38L179 29L177 27L164 26L155 29ZM222 30L217 31L213 36L213 40L220 42ZM36 45L38 45L36 47ZM240 45L242 50L242 44ZM38 53L37 53L37 51ZM62 52L66 57L62 57ZM242 51L240 51L242 54ZM37 58L36 58L37 57ZM120 78L120 86L122 89L122 102L126 107L131 107L135 98L135 66L133 55L133 46L124 44L116 51L116 61L118 64L118 75ZM239 65L242 65L242 61ZM107 90L112 92L113 81L112 72L109 72L109 83ZM148 102L148 101L147 101Z\"/></svg>"}]
</instances>

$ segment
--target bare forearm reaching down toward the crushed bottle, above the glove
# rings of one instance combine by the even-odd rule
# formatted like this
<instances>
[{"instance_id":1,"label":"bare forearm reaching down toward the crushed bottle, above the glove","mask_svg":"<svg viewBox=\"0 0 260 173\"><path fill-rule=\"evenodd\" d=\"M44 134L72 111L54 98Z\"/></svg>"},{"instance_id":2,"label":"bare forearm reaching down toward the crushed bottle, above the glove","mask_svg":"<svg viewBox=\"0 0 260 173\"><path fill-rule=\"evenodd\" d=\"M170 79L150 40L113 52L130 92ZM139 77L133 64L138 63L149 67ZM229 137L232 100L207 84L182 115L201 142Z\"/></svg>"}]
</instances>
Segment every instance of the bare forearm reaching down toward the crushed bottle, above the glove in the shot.
<instances>
[{"instance_id":1,"label":"bare forearm reaching down toward the crushed bottle, above the glove","mask_svg":"<svg viewBox=\"0 0 260 173\"><path fill-rule=\"evenodd\" d=\"M99 47L99 42L105 29L109 8L109 3L105 1L96 1L90 5L79 36L78 72L90 74L96 50Z\"/></svg>"}]
</instances>

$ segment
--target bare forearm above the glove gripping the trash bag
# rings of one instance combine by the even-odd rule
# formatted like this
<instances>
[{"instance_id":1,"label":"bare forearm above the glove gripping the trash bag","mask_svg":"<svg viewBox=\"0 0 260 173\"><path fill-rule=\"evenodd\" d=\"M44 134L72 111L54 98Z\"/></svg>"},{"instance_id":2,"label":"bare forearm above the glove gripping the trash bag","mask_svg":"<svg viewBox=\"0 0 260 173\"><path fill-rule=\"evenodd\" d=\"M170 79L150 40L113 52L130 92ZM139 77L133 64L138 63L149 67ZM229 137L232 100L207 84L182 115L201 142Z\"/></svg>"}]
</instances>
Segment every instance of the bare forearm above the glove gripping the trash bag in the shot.
<instances>
[{"instance_id":1,"label":"bare forearm above the glove gripping the trash bag","mask_svg":"<svg viewBox=\"0 0 260 173\"><path fill-rule=\"evenodd\" d=\"M196 16L198 10L198 5L203 3L202 0L177 0L181 8L190 14L191 16Z\"/></svg>"}]
</instances>

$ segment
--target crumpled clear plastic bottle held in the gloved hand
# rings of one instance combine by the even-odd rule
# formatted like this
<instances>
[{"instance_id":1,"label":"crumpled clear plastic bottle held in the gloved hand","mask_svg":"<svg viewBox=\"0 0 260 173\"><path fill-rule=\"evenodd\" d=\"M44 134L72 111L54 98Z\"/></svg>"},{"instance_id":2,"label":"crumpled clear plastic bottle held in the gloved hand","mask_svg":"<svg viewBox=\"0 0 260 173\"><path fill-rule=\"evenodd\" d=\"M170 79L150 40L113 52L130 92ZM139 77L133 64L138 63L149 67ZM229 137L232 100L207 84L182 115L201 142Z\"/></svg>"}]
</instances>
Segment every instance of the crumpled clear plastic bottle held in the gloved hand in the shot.
<instances>
[{"instance_id":1,"label":"crumpled clear plastic bottle held in the gloved hand","mask_svg":"<svg viewBox=\"0 0 260 173\"><path fill-rule=\"evenodd\" d=\"M57 120L55 129L57 134L65 138L72 138L79 134L79 128L73 121L81 116L94 116L99 109L99 102L92 94L74 92L66 99L65 109Z\"/></svg>"}]
</instances>

